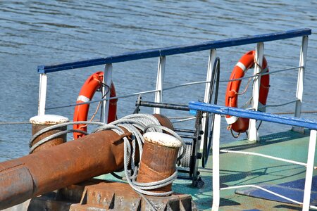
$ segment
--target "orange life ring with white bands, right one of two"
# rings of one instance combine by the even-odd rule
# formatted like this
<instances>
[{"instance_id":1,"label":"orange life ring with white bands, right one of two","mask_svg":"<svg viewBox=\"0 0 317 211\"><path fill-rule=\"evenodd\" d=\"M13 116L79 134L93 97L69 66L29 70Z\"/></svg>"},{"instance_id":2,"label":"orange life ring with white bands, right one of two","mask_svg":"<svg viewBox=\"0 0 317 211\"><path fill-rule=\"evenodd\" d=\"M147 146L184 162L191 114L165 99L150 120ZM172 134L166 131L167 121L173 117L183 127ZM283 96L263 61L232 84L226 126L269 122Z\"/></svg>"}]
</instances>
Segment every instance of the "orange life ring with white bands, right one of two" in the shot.
<instances>
[{"instance_id":1,"label":"orange life ring with white bands, right one of two","mask_svg":"<svg viewBox=\"0 0 317 211\"><path fill-rule=\"evenodd\" d=\"M245 53L238 63L233 68L232 73L230 75L230 80L232 79L240 79L244 77L244 73L249 70L252 66L254 66L254 57L255 51L249 51ZM266 58L263 56L263 64L262 64L262 72L268 72L268 63L266 62ZM238 93L240 89L241 80L230 81L228 82L227 91L225 93L225 106L236 107L237 108L237 100ZM259 106L266 105L266 98L268 97L268 88L270 85L270 77L269 75L262 75L260 81L260 90L259 90ZM265 108L261 111L265 111ZM249 119L242 117L233 117L230 115L225 116L225 120L228 124L231 125L231 129L235 132L246 132L249 128Z\"/></svg>"}]
</instances>

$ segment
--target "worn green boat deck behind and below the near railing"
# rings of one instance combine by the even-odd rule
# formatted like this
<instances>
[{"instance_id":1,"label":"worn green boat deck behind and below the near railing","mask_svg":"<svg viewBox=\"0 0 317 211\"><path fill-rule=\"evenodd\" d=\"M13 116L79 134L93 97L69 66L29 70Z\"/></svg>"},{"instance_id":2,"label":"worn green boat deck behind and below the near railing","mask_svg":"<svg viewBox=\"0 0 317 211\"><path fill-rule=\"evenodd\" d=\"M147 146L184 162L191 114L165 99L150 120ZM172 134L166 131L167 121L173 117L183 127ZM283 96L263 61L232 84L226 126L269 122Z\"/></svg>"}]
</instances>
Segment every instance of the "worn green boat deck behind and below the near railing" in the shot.
<instances>
[{"instance_id":1,"label":"worn green boat deck behind and below the near railing","mask_svg":"<svg viewBox=\"0 0 317 211\"><path fill-rule=\"evenodd\" d=\"M309 145L309 132L299 134L287 131L278 134L270 134L261 137L261 143L251 143L250 141L236 141L221 146L221 149L249 151L273 155L279 158L307 161L307 148ZM174 181L173 189L178 193L191 194L199 210L210 210L212 204L212 160L209 156L209 163L205 169L200 169L201 176L205 182L202 188L192 188L191 181ZM317 161L315 160L315 166ZM220 154L220 184L221 187L237 186L246 184L256 185L277 185L290 181L297 181L297 184L285 184L280 192L287 194L304 194L304 177L306 168L300 165L292 165L286 162L260 158L254 155L238 155L233 153ZM317 172L314 172L316 175ZM285 187L284 186L284 187ZM316 189L317 181L313 181L312 187ZM268 186L266 186L267 188ZM290 191L292 188L292 191ZM302 188L302 191L297 189ZM250 188L244 188L250 189ZM240 190L240 189L239 189ZM242 189L243 190L243 189ZM276 190L275 190L276 191ZM264 191L260 194L266 193ZM286 193L285 193L286 192ZM313 192L312 192L313 194ZM271 194L266 194L271 195ZM296 195L296 194L293 194ZM288 195L296 200L296 196ZM295 198L294 198L295 197ZM278 197L275 197L278 198ZM300 198L300 196L299 196ZM313 195L311 197L313 200ZM298 199L302 200L302 199ZM316 195L314 200L316 201ZM316 203L315 203L316 205ZM243 196L235 193L235 189L220 191L220 210L302 210L299 205L290 203L280 203L273 200L263 200L250 196Z\"/></svg>"}]
</instances>

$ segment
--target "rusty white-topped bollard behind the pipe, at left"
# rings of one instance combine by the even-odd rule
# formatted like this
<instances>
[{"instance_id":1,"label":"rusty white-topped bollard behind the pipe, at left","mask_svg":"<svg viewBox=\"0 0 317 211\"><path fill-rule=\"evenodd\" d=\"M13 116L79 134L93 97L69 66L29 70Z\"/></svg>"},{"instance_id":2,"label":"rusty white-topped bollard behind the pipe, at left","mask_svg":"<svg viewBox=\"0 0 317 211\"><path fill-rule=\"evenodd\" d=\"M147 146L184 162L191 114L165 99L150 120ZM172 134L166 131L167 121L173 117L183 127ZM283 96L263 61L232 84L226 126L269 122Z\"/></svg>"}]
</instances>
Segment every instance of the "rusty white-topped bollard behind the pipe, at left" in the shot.
<instances>
[{"instance_id":1,"label":"rusty white-topped bollard behind the pipe, at left","mask_svg":"<svg viewBox=\"0 0 317 211\"><path fill-rule=\"evenodd\" d=\"M30 118L30 123L32 123L32 136L39 132L41 129L44 129L46 127L49 127L54 124L60 124L68 122L67 117L63 117L60 115L37 115L35 117ZM56 129L52 129L48 132L45 132L44 134L38 136L33 142L32 146L37 143L38 141L41 141L42 139L46 138L47 136L50 136L52 134L56 134L57 132L61 132L67 129L67 126L64 127L58 127ZM42 144L41 146L38 146L35 148L33 153L43 150L45 148L51 148L52 146L59 145L61 143L65 143L67 141L67 134L61 135L56 137L55 139L51 139L50 141Z\"/></svg>"}]
</instances>

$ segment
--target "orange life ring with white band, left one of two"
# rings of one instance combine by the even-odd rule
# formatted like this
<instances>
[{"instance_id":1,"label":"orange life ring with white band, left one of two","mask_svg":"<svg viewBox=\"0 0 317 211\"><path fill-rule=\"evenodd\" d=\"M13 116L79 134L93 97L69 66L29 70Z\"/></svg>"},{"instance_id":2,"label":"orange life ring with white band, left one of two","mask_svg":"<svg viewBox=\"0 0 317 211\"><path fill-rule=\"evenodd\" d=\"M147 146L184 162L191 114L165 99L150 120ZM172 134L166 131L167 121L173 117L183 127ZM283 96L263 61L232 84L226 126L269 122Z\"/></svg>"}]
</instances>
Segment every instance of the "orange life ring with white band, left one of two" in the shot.
<instances>
[{"instance_id":1,"label":"orange life ring with white band, left one of two","mask_svg":"<svg viewBox=\"0 0 317 211\"><path fill-rule=\"evenodd\" d=\"M97 89L101 87L101 84L104 79L104 72L95 72L90 75L86 80L85 84L82 85L82 89L80 89L80 94L78 95L76 103L84 103L87 101L91 101ZM111 82L110 88L110 97L116 96L116 89ZM116 120L117 113L117 101L118 99L111 99L109 103L109 112L108 112L108 122L113 122ZM87 121L89 111L89 104L83 104L75 106L75 112L73 120L77 121ZM80 129L82 131L87 132L87 125L85 124L74 124L73 129ZM74 132L74 139L85 136L84 134Z\"/></svg>"}]
</instances>

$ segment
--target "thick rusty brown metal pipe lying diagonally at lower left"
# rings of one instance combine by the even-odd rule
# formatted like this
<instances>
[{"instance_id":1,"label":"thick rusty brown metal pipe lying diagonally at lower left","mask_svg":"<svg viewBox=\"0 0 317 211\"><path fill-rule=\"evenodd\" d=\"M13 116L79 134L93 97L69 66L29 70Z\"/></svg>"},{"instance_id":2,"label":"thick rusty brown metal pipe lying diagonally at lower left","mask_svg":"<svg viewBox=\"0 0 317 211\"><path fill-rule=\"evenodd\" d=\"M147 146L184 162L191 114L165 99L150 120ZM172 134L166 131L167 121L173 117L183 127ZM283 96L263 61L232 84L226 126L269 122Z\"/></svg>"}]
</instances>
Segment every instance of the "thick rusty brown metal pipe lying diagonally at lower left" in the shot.
<instances>
[{"instance_id":1,"label":"thick rusty brown metal pipe lying diagonally at lower left","mask_svg":"<svg viewBox=\"0 0 317 211\"><path fill-rule=\"evenodd\" d=\"M156 116L171 127L166 117ZM125 131L125 135L130 133ZM0 163L0 210L123 168L123 136L97 132L23 158Z\"/></svg>"}]
</instances>

